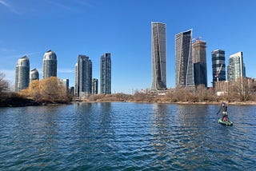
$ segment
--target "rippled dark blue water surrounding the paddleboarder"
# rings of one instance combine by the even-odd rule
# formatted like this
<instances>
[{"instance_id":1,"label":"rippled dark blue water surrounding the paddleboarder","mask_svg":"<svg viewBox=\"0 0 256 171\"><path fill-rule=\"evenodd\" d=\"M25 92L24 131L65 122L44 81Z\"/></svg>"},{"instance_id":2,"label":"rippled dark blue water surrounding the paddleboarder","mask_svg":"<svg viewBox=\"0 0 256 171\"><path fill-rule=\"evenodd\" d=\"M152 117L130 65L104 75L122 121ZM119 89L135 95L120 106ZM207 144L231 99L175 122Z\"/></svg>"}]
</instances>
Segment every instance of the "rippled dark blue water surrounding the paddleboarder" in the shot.
<instances>
[{"instance_id":1,"label":"rippled dark blue water surrounding the paddleboarder","mask_svg":"<svg viewBox=\"0 0 256 171\"><path fill-rule=\"evenodd\" d=\"M255 170L256 105L0 108L1 170Z\"/></svg>"}]
</instances>

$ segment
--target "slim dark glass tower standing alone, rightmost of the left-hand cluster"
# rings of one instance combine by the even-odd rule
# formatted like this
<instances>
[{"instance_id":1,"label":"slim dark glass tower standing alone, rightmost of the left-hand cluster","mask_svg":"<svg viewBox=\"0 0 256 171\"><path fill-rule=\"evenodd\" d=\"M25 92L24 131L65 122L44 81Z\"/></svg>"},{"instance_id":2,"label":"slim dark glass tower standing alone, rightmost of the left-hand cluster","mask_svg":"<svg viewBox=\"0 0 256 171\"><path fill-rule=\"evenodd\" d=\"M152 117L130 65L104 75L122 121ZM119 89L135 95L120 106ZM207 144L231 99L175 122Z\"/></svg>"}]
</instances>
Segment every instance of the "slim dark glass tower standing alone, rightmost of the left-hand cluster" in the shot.
<instances>
[{"instance_id":1,"label":"slim dark glass tower standing alone, rightmost of the left-hand cluster","mask_svg":"<svg viewBox=\"0 0 256 171\"><path fill-rule=\"evenodd\" d=\"M101 93L111 93L111 54L106 53L101 58Z\"/></svg>"}]
</instances>

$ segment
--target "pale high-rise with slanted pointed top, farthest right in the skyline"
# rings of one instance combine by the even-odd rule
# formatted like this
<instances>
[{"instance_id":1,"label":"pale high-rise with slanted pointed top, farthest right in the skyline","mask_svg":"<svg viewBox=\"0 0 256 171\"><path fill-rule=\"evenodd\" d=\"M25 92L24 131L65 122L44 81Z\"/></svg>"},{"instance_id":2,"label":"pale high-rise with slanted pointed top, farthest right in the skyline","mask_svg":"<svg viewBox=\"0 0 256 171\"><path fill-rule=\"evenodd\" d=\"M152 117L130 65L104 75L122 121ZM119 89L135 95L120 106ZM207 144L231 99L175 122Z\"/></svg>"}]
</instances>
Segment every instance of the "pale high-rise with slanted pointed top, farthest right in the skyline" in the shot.
<instances>
[{"instance_id":1,"label":"pale high-rise with slanted pointed top, farthest right in the skyline","mask_svg":"<svg viewBox=\"0 0 256 171\"><path fill-rule=\"evenodd\" d=\"M246 77L246 66L243 63L242 52L231 54L229 58L229 65L227 66L227 80L229 82L235 81L237 78Z\"/></svg>"}]
</instances>

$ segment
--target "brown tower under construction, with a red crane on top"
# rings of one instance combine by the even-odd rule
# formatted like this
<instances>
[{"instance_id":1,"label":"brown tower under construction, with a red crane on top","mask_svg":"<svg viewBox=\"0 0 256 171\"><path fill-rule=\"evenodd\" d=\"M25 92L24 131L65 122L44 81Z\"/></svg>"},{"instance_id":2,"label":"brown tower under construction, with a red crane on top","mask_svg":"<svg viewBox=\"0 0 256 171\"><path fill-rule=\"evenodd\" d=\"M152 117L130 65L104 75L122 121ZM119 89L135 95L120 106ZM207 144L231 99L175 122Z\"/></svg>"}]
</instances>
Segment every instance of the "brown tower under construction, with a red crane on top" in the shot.
<instances>
[{"instance_id":1,"label":"brown tower under construction, with a red crane on top","mask_svg":"<svg viewBox=\"0 0 256 171\"><path fill-rule=\"evenodd\" d=\"M194 85L207 87L206 42L196 40L192 44L194 58Z\"/></svg>"}]
</instances>

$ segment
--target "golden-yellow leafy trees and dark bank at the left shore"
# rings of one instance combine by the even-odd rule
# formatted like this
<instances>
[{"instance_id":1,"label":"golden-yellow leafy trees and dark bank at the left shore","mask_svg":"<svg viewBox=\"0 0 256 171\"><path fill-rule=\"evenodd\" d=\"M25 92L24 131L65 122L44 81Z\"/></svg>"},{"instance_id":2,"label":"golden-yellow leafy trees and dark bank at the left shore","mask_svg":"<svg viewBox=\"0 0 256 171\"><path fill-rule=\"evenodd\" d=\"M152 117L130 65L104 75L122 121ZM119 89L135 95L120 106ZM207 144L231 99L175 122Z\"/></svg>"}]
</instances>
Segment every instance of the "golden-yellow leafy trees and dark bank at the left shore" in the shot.
<instances>
[{"instance_id":1,"label":"golden-yellow leafy trees and dark bank at the left shore","mask_svg":"<svg viewBox=\"0 0 256 171\"><path fill-rule=\"evenodd\" d=\"M0 72L0 106L68 103L71 100L72 96L66 92L66 87L56 77L34 80L27 89L15 93L10 91L9 82Z\"/></svg>"}]
</instances>

